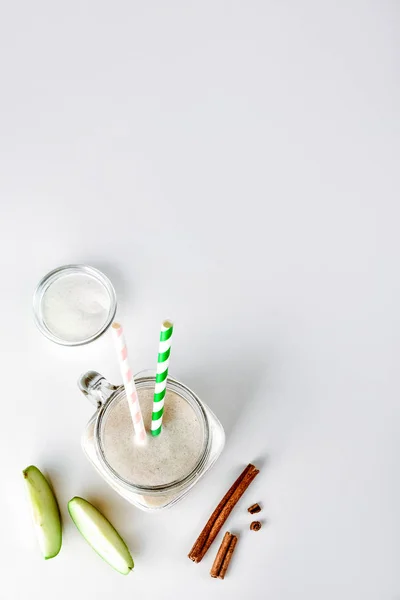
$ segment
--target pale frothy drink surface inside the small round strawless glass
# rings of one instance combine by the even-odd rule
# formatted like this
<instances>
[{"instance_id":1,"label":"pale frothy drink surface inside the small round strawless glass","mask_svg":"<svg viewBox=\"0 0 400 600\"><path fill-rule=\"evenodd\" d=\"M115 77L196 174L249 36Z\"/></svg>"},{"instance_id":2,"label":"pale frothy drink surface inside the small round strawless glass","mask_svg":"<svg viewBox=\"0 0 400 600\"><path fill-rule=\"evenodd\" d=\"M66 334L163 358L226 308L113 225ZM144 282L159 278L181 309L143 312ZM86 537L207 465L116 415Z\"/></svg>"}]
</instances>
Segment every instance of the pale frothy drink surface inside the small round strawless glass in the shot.
<instances>
[{"instance_id":1,"label":"pale frothy drink surface inside the small round strawless glass","mask_svg":"<svg viewBox=\"0 0 400 600\"><path fill-rule=\"evenodd\" d=\"M96 335L107 321L110 296L104 285L83 273L54 281L42 302L43 321L48 329L70 342Z\"/></svg>"}]
</instances>

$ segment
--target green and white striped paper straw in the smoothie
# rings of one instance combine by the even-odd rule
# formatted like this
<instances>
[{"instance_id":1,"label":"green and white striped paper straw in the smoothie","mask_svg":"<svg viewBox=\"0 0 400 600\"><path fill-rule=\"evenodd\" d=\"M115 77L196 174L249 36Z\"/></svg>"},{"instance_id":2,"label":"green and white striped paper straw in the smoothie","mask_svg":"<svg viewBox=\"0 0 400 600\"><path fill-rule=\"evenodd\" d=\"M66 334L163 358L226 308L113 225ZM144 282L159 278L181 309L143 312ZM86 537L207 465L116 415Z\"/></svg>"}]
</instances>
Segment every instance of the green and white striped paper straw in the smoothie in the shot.
<instances>
[{"instance_id":1,"label":"green and white striped paper straw in the smoothie","mask_svg":"<svg viewBox=\"0 0 400 600\"><path fill-rule=\"evenodd\" d=\"M151 435L160 435L162 417L164 413L164 398L167 390L167 377L169 355L171 353L171 337L174 326L171 321L164 321L161 325L160 345L158 347L158 361L156 373L156 387L154 389L153 412L151 415Z\"/></svg>"}]
</instances>

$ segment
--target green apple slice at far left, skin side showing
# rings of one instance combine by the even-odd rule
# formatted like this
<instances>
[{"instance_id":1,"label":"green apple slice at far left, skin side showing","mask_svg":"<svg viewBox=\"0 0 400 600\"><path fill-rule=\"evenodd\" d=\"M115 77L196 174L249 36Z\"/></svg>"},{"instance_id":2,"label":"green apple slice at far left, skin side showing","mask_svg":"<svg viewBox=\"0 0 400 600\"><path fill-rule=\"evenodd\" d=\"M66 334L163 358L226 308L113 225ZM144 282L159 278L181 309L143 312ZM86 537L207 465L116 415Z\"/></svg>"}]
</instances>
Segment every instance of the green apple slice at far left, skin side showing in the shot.
<instances>
[{"instance_id":1,"label":"green apple slice at far left, skin side showing","mask_svg":"<svg viewBox=\"0 0 400 600\"><path fill-rule=\"evenodd\" d=\"M61 518L56 497L45 476L31 465L23 471L32 507L33 522L44 558L54 558L61 548Z\"/></svg>"}]
</instances>

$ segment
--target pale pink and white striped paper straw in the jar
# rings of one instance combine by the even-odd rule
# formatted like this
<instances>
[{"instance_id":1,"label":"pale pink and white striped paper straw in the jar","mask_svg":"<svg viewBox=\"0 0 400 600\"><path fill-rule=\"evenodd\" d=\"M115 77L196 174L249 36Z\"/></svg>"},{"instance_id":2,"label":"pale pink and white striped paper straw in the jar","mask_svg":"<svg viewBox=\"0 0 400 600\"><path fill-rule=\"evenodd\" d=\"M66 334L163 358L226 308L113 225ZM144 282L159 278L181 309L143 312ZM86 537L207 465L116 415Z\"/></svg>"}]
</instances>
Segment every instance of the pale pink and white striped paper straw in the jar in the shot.
<instances>
[{"instance_id":1,"label":"pale pink and white striped paper straw in the jar","mask_svg":"<svg viewBox=\"0 0 400 600\"><path fill-rule=\"evenodd\" d=\"M146 430L144 428L142 411L140 410L135 380L133 379L132 369L128 363L128 349L126 347L124 331L120 323L113 323L111 330L113 332L119 368L124 382L125 394L131 412L133 427L138 441L143 443L146 440Z\"/></svg>"}]
</instances>

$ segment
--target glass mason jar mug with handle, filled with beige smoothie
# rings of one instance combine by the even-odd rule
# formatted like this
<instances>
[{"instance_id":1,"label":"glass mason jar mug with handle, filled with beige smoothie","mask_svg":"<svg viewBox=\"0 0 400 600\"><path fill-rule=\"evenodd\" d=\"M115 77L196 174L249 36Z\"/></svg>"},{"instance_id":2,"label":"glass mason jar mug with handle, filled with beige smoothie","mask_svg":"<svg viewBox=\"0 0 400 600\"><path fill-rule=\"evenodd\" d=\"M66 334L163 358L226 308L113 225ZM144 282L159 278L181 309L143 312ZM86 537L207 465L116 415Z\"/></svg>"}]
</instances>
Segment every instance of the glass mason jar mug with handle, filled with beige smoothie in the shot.
<instances>
[{"instance_id":1,"label":"glass mason jar mug with handle, filled with beige smoothie","mask_svg":"<svg viewBox=\"0 0 400 600\"><path fill-rule=\"evenodd\" d=\"M135 376L146 430L150 431L155 375ZM168 378L162 432L135 440L123 386L95 371L83 375L81 391L96 405L82 437L83 450L100 475L128 502L146 511L173 506L210 469L225 434L214 413L183 383Z\"/></svg>"}]
</instances>

